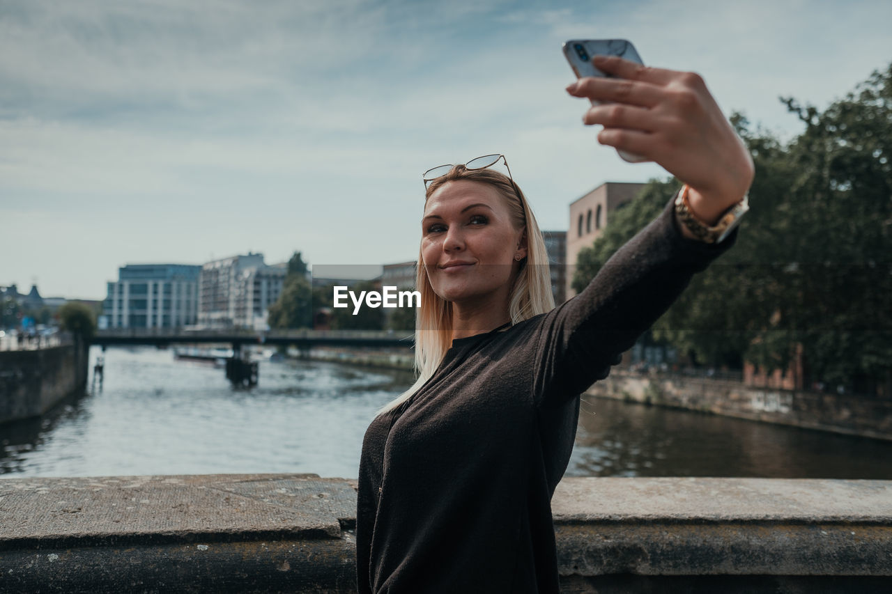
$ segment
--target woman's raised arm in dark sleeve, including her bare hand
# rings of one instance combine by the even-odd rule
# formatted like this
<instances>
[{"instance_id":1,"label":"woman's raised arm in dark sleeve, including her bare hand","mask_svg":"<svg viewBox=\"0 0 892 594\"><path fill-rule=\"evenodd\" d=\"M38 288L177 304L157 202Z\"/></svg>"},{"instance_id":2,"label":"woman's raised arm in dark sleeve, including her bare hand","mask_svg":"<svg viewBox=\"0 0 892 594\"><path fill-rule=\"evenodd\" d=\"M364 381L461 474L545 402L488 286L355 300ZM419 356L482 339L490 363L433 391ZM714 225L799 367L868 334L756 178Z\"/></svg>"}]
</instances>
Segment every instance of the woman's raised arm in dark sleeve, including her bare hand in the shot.
<instances>
[{"instance_id":1,"label":"woman's raised arm in dark sleeve, including her bare hand","mask_svg":"<svg viewBox=\"0 0 892 594\"><path fill-rule=\"evenodd\" d=\"M714 225L747 194L754 169L703 79L615 56L597 56L594 62L616 78L581 78L567 87L570 95L601 102L582 121L604 126L599 143L655 161L681 180L688 186L690 213L703 225ZM607 376L691 276L727 250L735 236L702 243L667 204L582 293L543 319L536 386L541 402L572 397Z\"/></svg>"}]
</instances>

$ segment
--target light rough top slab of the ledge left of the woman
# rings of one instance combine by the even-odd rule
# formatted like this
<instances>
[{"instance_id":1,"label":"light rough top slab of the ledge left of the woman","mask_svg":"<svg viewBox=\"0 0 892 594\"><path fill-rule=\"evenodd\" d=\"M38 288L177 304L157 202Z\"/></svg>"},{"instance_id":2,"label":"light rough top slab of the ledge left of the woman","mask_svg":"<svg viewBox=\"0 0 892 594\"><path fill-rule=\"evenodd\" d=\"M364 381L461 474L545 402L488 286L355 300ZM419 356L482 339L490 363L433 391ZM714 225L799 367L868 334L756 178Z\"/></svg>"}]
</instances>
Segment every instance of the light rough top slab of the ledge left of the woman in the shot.
<instances>
[{"instance_id":1,"label":"light rough top slab of the ledge left of the woman","mask_svg":"<svg viewBox=\"0 0 892 594\"><path fill-rule=\"evenodd\" d=\"M0 480L0 550L336 539L355 517L353 484L316 474Z\"/></svg>"}]
</instances>

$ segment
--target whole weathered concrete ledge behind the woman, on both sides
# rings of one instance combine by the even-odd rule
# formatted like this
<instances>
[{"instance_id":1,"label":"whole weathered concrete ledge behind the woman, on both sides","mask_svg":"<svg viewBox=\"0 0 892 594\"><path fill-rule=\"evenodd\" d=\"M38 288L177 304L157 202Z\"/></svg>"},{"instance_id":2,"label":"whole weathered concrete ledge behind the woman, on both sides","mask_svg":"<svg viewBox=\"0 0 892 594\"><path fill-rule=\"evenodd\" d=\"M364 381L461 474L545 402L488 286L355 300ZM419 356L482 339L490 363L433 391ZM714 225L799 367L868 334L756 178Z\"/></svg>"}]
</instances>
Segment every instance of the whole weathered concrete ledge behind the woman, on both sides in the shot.
<instances>
[{"instance_id":1,"label":"whole weathered concrete ledge behind the woman, on both sides","mask_svg":"<svg viewBox=\"0 0 892 594\"><path fill-rule=\"evenodd\" d=\"M2 479L0 591L355 591L355 487ZM881 591L892 576L890 481L567 478L553 508L566 592Z\"/></svg>"}]
</instances>

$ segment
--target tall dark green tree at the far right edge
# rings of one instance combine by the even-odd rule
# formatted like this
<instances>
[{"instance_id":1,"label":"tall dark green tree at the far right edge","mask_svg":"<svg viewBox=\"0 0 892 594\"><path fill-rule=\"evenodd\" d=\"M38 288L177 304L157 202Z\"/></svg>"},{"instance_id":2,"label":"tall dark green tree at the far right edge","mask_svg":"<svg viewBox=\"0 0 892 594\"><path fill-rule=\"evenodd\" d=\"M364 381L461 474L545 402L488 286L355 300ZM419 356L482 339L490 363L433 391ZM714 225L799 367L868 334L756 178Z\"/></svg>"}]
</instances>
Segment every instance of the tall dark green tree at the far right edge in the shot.
<instances>
[{"instance_id":1,"label":"tall dark green tree at the far right edge","mask_svg":"<svg viewBox=\"0 0 892 594\"><path fill-rule=\"evenodd\" d=\"M780 326L806 372L892 388L892 64L825 111L785 99L805 123L789 146L790 254Z\"/></svg>"}]
</instances>

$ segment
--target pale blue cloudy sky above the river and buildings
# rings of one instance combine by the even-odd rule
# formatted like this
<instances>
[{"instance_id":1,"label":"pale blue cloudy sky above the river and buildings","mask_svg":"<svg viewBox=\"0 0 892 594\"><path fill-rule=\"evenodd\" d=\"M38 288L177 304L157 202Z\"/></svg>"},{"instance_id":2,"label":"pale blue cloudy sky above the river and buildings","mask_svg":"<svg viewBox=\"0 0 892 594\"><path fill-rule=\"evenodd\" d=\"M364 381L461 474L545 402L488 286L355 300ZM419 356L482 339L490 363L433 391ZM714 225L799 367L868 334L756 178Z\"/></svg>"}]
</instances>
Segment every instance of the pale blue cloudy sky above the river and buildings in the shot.
<instances>
[{"instance_id":1,"label":"pale blue cloudy sky above the river and buildings","mask_svg":"<svg viewBox=\"0 0 892 594\"><path fill-rule=\"evenodd\" d=\"M666 177L582 125L561 44L627 38L781 138L892 61L892 3L0 0L0 285L129 263L414 260L421 174L504 153L542 229Z\"/></svg>"}]
</instances>

